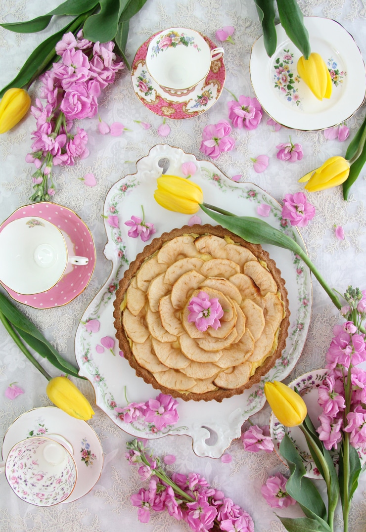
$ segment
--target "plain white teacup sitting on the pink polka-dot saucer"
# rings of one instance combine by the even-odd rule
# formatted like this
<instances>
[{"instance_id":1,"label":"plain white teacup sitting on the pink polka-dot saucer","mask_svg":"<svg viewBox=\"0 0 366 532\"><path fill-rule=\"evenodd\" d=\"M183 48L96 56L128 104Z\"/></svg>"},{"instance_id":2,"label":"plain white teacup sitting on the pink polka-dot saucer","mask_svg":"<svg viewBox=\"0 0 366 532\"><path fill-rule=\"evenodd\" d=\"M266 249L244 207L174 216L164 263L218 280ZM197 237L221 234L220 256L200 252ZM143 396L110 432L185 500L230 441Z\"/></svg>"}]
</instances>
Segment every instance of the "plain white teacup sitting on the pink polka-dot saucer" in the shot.
<instances>
[{"instance_id":1,"label":"plain white teacup sitting on the pink polka-dot saucer","mask_svg":"<svg viewBox=\"0 0 366 532\"><path fill-rule=\"evenodd\" d=\"M0 280L19 294L46 292L68 263L88 263L87 257L69 256L60 229L37 217L8 223L0 232L0 250Z\"/></svg>"}]
</instances>

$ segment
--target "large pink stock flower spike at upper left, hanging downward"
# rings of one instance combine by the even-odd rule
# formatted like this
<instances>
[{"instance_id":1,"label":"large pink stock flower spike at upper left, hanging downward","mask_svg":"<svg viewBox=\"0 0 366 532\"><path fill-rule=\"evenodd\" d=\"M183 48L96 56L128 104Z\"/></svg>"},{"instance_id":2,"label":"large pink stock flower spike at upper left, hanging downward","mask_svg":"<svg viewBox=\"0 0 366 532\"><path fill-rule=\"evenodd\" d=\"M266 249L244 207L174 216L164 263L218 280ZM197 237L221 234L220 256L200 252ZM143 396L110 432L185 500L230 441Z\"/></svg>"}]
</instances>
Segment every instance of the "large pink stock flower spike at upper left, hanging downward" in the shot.
<instances>
[{"instance_id":1,"label":"large pink stock flower spike at upper left, hanging downward","mask_svg":"<svg viewBox=\"0 0 366 532\"><path fill-rule=\"evenodd\" d=\"M76 157L84 159L88 135L82 128L72 133L74 119L94 117L98 111L97 98L103 88L113 83L124 64L113 53L114 43L91 43L69 32L56 44L61 60L53 64L39 79L42 82L41 98L36 99L31 113L36 118L37 129L32 132L32 152L26 161L34 163L35 193L32 201L48 200L54 186L48 188L47 176L56 165L73 165Z\"/></svg>"}]
</instances>

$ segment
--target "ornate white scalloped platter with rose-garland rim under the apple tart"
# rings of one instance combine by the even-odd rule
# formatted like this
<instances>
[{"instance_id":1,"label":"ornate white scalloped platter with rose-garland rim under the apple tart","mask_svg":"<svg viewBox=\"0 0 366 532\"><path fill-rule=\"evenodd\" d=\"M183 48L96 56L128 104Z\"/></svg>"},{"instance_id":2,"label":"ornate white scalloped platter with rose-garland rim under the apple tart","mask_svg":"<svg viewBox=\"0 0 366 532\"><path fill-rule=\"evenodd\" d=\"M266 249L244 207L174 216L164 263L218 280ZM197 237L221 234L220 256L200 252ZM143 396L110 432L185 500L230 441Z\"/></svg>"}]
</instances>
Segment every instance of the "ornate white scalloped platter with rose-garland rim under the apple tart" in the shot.
<instances>
[{"instance_id":1,"label":"ornate white scalloped platter with rose-garland rim under the apple tart","mask_svg":"<svg viewBox=\"0 0 366 532\"><path fill-rule=\"evenodd\" d=\"M181 165L184 162L195 164L197 170L192 179L202 187L207 203L237 214L245 212L254 217L258 217L257 206L265 203L271 209L266 220L278 229L288 232L304 248L296 229L282 227L279 204L262 189L251 183L235 183L224 176L212 162L198 161L194 155L186 154L180 148L158 144L136 163L137 172L117 181L106 196L104 220L108 242L104 254L106 259L112 262L112 271L81 319L76 332L75 353L80 375L89 379L94 386L97 405L120 428L131 435L144 438L187 434L193 439L193 450L197 455L219 458L231 441L240 436L240 427L244 421L263 407L264 381L245 390L242 395L224 399L222 403L178 400L179 421L163 430L157 430L153 423L126 423L121 419L118 410L115 410L127 404L125 388L129 401L147 401L158 394L151 385L136 377L135 370L120 356L115 340L114 293L129 262L145 247L142 240L127 236L129 227L124 225L124 222L132 215L141 217L143 205L145 221L155 225L154 237L186 225L189 215L167 211L153 198L156 178L163 171L183 176ZM203 212L199 211L197 214L202 223L213 222ZM276 261L288 290L291 315L286 348L275 367L266 376L270 380L282 380L294 367L305 343L310 322L311 278L310 271L294 254L276 246L263 247ZM88 326L90 320L95 321ZM107 341L105 337L108 337ZM209 439L210 434L210 442L214 442L213 445L205 441Z\"/></svg>"}]
</instances>

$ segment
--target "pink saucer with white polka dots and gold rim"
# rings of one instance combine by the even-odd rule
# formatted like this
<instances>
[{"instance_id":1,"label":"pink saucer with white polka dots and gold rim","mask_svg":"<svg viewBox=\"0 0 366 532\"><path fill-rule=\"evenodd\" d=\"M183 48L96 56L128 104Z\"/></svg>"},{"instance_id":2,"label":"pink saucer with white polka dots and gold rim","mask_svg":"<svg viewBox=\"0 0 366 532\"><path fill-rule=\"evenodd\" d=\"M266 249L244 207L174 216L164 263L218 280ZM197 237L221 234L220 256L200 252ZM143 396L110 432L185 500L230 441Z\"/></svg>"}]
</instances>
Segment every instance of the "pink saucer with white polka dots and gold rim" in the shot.
<instances>
[{"instance_id":1,"label":"pink saucer with white polka dots and gold rim","mask_svg":"<svg viewBox=\"0 0 366 532\"><path fill-rule=\"evenodd\" d=\"M34 309L51 309L66 305L85 290L93 275L96 259L93 237L86 224L76 213L67 207L51 202L34 203L20 207L1 224L0 232L9 222L29 216L52 222L61 230L69 255L85 256L89 262L83 266L68 264L62 279L49 290L39 294L19 294L1 281L0 284L15 301L34 307Z\"/></svg>"}]
</instances>

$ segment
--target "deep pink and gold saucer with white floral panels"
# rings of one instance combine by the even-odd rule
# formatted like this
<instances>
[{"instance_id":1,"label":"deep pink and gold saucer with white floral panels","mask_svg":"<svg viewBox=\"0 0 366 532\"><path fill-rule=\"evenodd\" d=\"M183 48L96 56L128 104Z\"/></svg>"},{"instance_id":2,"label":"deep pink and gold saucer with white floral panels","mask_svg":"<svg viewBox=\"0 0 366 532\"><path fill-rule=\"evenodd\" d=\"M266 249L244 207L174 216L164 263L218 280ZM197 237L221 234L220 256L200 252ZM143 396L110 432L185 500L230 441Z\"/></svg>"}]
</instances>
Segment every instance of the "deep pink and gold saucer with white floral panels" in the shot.
<instances>
[{"instance_id":1,"label":"deep pink and gold saucer with white floral panels","mask_svg":"<svg viewBox=\"0 0 366 532\"><path fill-rule=\"evenodd\" d=\"M147 47L155 35L139 47L131 66L132 86L140 102L153 113L175 120L196 117L210 109L222 93L226 77L223 58L212 61L206 78L191 92L182 96L171 95L157 84L146 69ZM208 37L203 35L203 38L211 49L216 47Z\"/></svg>"}]
</instances>

